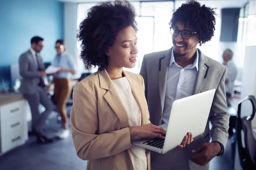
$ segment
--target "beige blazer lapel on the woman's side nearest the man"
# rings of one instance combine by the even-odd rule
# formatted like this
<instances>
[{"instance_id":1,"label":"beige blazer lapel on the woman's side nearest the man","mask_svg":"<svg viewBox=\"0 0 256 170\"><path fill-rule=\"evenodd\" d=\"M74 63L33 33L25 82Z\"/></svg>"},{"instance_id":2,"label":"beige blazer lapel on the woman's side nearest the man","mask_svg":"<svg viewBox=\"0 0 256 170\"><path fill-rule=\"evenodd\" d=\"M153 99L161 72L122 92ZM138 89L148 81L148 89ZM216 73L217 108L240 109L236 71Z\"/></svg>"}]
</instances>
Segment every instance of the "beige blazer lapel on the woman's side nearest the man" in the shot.
<instances>
[{"instance_id":1,"label":"beige blazer lapel on the woman's side nearest the man","mask_svg":"<svg viewBox=\"0 0 256 170\"><path fill-rule=\"evenodd\" d=\"M125 77L128 79L129 84L131 85L131 93L134 95L134 98L136 99L139 107L140 107L140 111L141 111L141 125L145 125L148 123L148 119L147 119L147 109L148 109L148 105L144 102L145 101L145 94L142 93L142 89L140 87L138 87L138 83L136 81L134 81L134 79L132 79L131 77L129 77L129 75L125 74L125 71L123 71L123 74L125 75Z\"/></svg>"}]
</instances>

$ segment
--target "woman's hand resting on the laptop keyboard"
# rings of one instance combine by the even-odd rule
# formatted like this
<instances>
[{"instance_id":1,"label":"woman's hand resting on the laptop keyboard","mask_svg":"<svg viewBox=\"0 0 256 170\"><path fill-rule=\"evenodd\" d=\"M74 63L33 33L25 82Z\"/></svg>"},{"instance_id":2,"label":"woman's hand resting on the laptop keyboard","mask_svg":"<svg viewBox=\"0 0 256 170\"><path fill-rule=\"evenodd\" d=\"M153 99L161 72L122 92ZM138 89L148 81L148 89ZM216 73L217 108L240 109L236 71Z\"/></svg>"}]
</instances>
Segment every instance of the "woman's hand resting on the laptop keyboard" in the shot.
<instances>
[{"instance_id":1,"label":"woman's hand resting on the laptop keyboard","mask_svg":"<svg viewBox=\"0 0 256 170\"><path fill-rule=\"evenodd\" d=\"M162 127L153 125L151 123L141 126L131 126L129 127L131 137L138 136L141 138L147 138L147 137L158 137L161 139L165 139L166 130L164 130ZM162 134L164 136L162 136Z\"/></svg>"}]
</instances>

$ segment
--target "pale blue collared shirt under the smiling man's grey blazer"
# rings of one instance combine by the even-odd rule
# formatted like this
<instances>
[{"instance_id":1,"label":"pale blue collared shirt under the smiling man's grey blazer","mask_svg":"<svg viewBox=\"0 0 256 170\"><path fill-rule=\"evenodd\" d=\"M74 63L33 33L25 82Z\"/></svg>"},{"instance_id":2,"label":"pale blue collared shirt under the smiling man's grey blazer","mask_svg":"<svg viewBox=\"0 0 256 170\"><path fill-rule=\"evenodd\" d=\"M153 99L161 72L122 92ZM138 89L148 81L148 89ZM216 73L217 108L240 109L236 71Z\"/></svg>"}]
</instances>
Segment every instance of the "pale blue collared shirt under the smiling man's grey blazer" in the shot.
<instances>
[{"instance_id":1,"label":"pale blue collared shirt under the smiling man's grey blazer","mask_svg":"<svg viewBox=\"0 0 256 170\"><path fill-rule=\"evenodd\" d=\"M166 80L166 95L163 107L162 123L168 123L172 109L172 103L177 99L191 96L194 92L198 75L198 50L193 64L182 68L175 62L173 50Z\"/></svg>"}]
</instances>

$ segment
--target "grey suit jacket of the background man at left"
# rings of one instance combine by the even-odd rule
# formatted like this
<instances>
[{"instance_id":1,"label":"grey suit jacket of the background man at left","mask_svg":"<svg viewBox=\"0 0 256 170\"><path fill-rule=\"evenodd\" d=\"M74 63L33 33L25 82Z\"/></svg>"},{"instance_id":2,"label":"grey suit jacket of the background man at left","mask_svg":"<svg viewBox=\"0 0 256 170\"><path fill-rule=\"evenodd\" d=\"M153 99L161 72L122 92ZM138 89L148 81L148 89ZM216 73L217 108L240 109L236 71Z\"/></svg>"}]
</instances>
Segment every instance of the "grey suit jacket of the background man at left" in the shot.
<instances>
[{"instance_id":1,"label":"grey suit jacket of the background man at left","mask_svg":"<svg viewBox=\"0 0 256 170\"><path fill-rule=\"evenodd\" d=\"M38 55L38 67L30 50L20 55L19 69L22 77L20 92L22 94L34 94L40 81L40 71L44 71L44 63L40 54Z\"/></svg>"}]
</instances>

